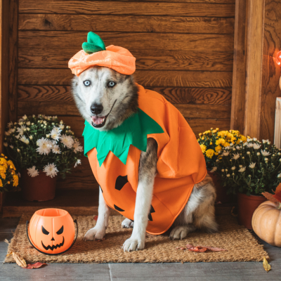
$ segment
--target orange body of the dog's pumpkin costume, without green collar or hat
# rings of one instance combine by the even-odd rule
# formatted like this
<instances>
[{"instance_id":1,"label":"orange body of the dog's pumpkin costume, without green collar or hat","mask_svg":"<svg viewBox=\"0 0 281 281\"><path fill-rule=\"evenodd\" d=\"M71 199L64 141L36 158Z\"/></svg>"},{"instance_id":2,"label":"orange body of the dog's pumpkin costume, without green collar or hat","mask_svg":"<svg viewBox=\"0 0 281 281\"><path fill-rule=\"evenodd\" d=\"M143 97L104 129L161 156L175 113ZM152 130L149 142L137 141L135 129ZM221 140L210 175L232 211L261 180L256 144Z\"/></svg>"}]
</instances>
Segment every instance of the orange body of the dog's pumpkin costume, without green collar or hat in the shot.
<instances>
[{"instance_id":1,"label":"orange body of the dog's pumpkin costume, without green collar or hat","mask_svg":"<svg viewBox=\"0 0 281 281\"><path fill-rule=\"evenodd\" d=\"M195 134L176 107L155 91L140 85L138 89L138 107L164 131L147 135L158 144L157 175L147 228L148 233L157 235L170 228L207 169ZM101 166L96 148L85 152L107 205L133 220L141 150L130 145L126 164L110 151Z\"/></svg>"}]
</instances>

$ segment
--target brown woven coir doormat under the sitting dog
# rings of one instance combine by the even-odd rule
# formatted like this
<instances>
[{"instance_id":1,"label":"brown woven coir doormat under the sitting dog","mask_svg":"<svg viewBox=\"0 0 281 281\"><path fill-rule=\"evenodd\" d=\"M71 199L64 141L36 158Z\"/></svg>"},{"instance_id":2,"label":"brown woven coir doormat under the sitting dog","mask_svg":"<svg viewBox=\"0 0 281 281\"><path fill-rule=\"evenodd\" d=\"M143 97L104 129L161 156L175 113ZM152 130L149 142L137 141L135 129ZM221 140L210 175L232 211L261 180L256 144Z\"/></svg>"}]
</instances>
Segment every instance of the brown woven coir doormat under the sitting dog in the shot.
<instances>
[{"instance_id":1,"label":"brown woven coir doormat under the sitting dog","mask_svg":"<svg viewBox=\"0 0 281 281\"><path fill-rule=\"evenodd\" d=\"M145 238L145 249L142 251L124 252L122 244L130 237L132 229L122 228L124 217L110 216L105 240L84 241L87 230L95 226L93 216L72 216L77 219L79 235L77 241L65 254L47 256L32 248L27 240L26 221L30 216L22 215L8 253L13 248L27 263L37 261L45 263L171 263L171 262L218 262L218 261L262 261L268 258L263 246L249 233L249 230L238 226L232 216L217 216L220 231L214 234L190 233L184 240L169 240L169 234L150 235ZM194 246L221 247L228 251L196 253L178 250L176 247ZM13 263L12 256L6 257L6 263Z\"/></svg>"}]
</instances>

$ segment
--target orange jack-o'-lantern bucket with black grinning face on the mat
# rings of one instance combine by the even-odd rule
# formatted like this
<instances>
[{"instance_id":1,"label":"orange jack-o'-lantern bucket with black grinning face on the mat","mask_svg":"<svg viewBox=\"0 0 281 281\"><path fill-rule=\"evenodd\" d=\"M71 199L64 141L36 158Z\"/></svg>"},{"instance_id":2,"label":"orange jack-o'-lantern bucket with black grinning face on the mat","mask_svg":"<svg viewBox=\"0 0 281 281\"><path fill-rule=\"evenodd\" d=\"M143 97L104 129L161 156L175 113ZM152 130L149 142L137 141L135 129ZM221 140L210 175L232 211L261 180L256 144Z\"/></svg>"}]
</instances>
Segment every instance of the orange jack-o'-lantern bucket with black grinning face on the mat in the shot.
<instances>
[{"instance_id":1,"label":"orange jack-o'-lantern bucket with black grinning face on the mat","mask_svg":"<svg viewBox=\"0 0 281 281\"><path fill-rule=\"evenodd\" d=\"M76 241L75 227L70 214L63 209L41 209L30 220L27 237L30 244L42 254L58 255L68 251Z\"/></svg>"}]
</instances>

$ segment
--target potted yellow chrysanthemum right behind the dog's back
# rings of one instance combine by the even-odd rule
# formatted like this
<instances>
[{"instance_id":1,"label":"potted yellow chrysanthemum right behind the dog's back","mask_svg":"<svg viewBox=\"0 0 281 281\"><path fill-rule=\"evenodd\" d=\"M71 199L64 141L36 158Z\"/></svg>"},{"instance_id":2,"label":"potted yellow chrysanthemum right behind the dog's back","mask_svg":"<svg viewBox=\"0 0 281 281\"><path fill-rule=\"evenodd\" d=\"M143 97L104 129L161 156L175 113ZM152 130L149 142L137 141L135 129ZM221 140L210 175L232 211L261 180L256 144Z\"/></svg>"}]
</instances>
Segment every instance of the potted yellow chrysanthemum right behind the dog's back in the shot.
<instances>
[{"instance_id":1,"label":"potted yellow chrysanthemum right behind the dog's back","mask_svg":"<svg viewBox=\"0 0 281 281\"><path fill-rule=\"evenodd\" d=\"M214 181L216 202L229 202L230 196L226 194L226 188L223 188L221 179L213 173L214 165L218 161L218 154L223 148L230 146L230 144L235 145L240 143L240 141L244 143L247 141L247 138L241 135L239 131L219 131L218 128L211 128L208 131L204 131L204 133L200 133L197 141L204 154L208 174Z\"/></svg>"}]
</instances>

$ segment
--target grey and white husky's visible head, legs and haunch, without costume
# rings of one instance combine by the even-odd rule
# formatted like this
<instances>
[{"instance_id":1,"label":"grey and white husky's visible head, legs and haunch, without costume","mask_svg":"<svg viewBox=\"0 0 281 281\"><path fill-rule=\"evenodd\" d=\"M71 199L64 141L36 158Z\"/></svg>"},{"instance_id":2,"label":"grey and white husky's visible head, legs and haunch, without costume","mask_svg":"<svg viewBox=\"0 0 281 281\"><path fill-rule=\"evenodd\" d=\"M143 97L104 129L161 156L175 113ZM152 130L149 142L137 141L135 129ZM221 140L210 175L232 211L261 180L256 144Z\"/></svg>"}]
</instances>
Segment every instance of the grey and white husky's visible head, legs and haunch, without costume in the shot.
<instances>
[{"instance_id":1,"label":"grey and white husky's visible head, legs and haunch, without costume","mask_svg":"<svg viewBox=\"0 0 281 281\"><path fill-rule=\"evenodd\" d=\"M111 130L138 110L138 87L131 75L120 74L107 67L94 66L72 79L72 93L82 117L97 130ZM157 174L157 143L148 138L146 152L141 152L136 192L134 221L126 218L123 228L133 228L123 244L124 251L145 247L145 230L152 202L153 184ZM171 227L170 239L183 239L188 233L202 229L217 231L214 216L216 192L209 176L193 188L188 203ZM87 231L84 240L102 240L110 209L100 191L98 221Z\"/></svg>"}]
</instances>

